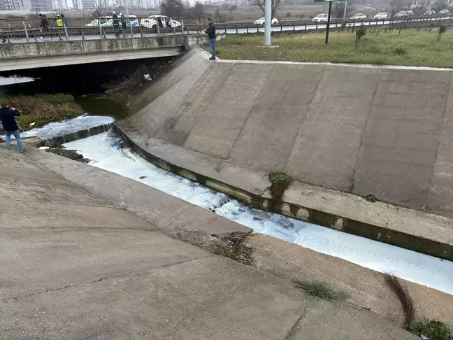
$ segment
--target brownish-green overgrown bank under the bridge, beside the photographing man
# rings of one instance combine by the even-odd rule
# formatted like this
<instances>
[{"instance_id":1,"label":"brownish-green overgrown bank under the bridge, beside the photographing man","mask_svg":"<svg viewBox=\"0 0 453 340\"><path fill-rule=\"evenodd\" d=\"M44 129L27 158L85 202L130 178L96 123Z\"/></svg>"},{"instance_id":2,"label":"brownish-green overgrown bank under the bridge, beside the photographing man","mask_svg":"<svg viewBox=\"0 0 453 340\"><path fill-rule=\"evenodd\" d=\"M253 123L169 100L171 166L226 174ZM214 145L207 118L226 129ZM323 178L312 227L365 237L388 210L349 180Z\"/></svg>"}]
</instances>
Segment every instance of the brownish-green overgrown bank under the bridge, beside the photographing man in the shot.
<instances>
[{"instance_id":1,"label":"brownish-green overgrown bank under the bridge, beside the photographing man","mask_svg":"<svg viewBox=\"0 0 453 340\"><path fill-rule=\"evenodd\" d=\"M34 96L4 96L9 106L22 111L17 117L20 129L27 131L50 122L74 118L83 113L82 107L75 104L71 94L35 94Z\"/></svg>"}]
</instances>

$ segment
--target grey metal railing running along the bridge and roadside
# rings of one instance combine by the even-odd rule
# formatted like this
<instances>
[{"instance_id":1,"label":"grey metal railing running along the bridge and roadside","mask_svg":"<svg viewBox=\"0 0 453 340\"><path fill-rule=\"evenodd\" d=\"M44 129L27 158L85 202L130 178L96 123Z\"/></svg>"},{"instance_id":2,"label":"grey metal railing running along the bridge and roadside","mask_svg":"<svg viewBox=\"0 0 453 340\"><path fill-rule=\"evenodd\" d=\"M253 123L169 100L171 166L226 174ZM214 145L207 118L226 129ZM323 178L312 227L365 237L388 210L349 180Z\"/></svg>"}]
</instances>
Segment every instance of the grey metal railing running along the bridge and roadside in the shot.
<instances>
[{"instance_id":1,"label":"grey metal railing running along the bridge and roadside","mask_svg":"<svg viewBox=\"0 0 453 340\"><path fill-rule=\"evenodd\" d=\"M0 41L3 43L21 43L29 41L40 41L41 39L64 40L85 40L93 38L115 38L134 37L145 35L166 35L181 33L203 33L207 28L206 24L200 24L194 18L180 18L178 26L171 27L168 22L152 22L148 17L140 17L134 20L119 21L113 25L112 20L106 18L64 18L58 21L57 18L48 18L48 24L43 25L39 19L36 20L9 20L0 19ZM97 22L96 22L97 20ZM148 22L145 22L148 20ZM99 24L99 22L101 24ZM354 27L354 26L382 26L398 25L404 28L423 27L431 24L445 22L453 24L453 17L412 17L401 19L384 20L331 20L331 28ZM168 26L169 25L169 26ZM217 31L225 34L252 34L264 30L263 24L253 22L218 23ZM326 28L326 22L312 22L312 20L282 21L279 24L271 25L273 31L300 31L319 30Z\"/></svg>"}]
</instances>

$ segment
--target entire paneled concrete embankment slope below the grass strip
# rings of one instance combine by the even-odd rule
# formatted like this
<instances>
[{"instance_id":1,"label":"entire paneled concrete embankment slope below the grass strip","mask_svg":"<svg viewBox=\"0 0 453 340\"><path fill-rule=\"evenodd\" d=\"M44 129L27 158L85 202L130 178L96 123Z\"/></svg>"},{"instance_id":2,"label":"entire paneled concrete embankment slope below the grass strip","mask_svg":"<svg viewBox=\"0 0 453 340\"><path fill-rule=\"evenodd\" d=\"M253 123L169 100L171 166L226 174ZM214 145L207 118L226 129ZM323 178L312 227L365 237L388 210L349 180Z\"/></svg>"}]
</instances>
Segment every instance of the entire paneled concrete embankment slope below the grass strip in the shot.
<instances>
[{"instance_id":1,"label":"entire paneled concrete embankment slope below the grass strip","mask_svg":"<svg viewBox=\"0 0 453 340\"><path fill-rule=\"evenodd\" d=\"M453 215L450 70L209 64L193 51L168 77L178 82L132 117L152 137L240 167Z\"/></svg>"}]
</instances>

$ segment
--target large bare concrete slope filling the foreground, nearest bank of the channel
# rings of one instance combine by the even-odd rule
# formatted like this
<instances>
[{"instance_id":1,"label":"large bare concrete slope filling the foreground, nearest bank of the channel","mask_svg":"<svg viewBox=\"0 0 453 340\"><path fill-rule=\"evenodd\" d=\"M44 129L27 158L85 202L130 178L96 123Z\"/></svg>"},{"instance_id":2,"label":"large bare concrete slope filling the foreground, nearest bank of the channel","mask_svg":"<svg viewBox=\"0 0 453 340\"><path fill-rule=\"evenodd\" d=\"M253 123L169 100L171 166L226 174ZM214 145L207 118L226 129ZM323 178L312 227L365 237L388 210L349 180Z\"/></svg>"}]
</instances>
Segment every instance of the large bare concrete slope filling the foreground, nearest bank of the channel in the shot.
<instances>
[{"instance_id":1,"label":"large bare concrete slope filling the foreground, nearest bank of the channel","mask_svg":"<svg viewBox=\"0 0 453 340\"><path fill-rule=\"evenodd\" d=\"M0 159L0 339L417 339L171 239L26 154Z\"/></svg>"}]
</instances>

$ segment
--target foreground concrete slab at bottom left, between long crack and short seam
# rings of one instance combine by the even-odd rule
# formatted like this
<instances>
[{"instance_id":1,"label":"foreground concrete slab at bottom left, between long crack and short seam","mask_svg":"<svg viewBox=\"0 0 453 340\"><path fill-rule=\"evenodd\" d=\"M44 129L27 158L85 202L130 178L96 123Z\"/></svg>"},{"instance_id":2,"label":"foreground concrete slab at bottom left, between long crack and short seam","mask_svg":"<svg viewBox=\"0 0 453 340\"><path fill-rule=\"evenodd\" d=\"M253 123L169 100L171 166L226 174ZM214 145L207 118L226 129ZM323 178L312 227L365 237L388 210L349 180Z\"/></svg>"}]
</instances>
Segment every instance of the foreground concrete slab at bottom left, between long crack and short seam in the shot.
<instances>
[{"instance_id":1,"label":"foreground concrete slab at bottom left, between long crack and short seam","mask_svg":"<svg viewBox=\"0 0 453 340\"><path fill-rule=\"evenodd\" d=\"M0 332L6 339L61 339L62 332L70 339L284 339L304 300L287 281L206 257L2 302Z\"/></svg>"}]
</instances>

